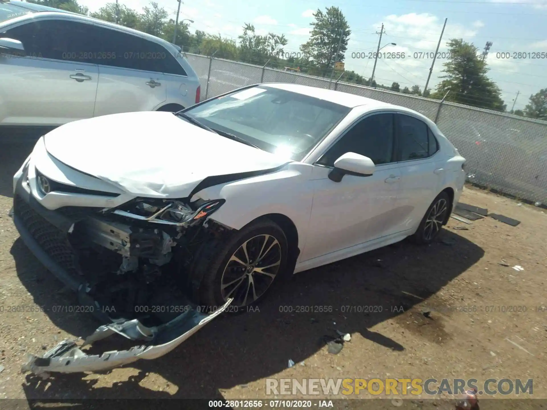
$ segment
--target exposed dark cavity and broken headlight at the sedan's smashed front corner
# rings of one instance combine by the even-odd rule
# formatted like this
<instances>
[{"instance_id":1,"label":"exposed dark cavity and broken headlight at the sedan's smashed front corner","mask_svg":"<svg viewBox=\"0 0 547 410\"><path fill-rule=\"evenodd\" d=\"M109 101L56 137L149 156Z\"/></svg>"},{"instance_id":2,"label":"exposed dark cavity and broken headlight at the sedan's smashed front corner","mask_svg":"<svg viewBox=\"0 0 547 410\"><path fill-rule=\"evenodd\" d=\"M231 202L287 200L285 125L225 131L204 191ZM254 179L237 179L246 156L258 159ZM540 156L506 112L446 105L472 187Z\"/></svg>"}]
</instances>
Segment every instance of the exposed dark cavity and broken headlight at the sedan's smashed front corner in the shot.
<instances>
[{"instance_id":1,"label":"exposed dark cavity and broken headlight at the sedan's smashed front corner","mask_svg":"<svg viewBox=\"0 0 547 410\"><path fill-rule=\"evenodd\" d=\"M158 325L182 313L193 294L189 266L207 239L226 229L207 216L223 201L136 200L74 224L69 241L77 250L86 295L110 319ZM194 301L197 302L197 301Z\"/></svg>"}]
</instances>

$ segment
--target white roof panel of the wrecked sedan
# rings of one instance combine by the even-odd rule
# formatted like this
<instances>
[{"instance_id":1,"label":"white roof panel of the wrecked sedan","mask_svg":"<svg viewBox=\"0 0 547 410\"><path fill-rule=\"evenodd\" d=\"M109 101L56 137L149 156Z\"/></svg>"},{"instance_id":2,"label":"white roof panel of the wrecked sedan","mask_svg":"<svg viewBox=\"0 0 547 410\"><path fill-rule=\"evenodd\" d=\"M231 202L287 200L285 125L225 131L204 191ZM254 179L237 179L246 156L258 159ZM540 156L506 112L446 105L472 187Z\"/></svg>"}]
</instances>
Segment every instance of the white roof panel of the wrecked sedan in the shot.
<instances>
[{"instance_id":1,"label":"white roof panel of the wrecked sedan","mask_svg":"<svg viewBox=\"0 0 547 410\"><path fill-rule=\"evenodd\" d=\"M388 108L388 109L402 109L404 107L395 106L394 104L385 103L378 101L373 98L366 98L355 94L350 94L348 92L341 92L335 90L328 90L324 88L312 87L309 85L300 85L292 83L264 83L269 87L274 87L280 90L298 92L299 94L304 94L310 97L315 97L323 99L324 101L329 101L340 106L355 108L359 106L367 106L368 109L377 109L377 108ZM408 110L405 109L405 110ZM412 110L409 110L412 111ZM413 112L413 111L412 111Z\"/></svg>"}]
</instances>

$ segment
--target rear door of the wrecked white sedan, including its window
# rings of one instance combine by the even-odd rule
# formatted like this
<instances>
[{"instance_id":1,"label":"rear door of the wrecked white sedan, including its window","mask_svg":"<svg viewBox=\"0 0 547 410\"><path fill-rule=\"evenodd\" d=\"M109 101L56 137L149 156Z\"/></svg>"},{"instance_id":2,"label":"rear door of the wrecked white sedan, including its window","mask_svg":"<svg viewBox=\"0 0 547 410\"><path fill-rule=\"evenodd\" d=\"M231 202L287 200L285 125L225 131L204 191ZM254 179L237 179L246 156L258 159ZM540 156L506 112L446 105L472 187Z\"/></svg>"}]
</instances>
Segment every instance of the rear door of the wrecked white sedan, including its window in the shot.
<instances>
[{"instance_id":1,"label":"rear door of the wrecked white sedan, including its window","mask_svg":"<svg viewBox=\"0 0 547 410\"><path fill-rule=\"evenodd\" d=\"M400 230L417 226L440 192L443 159L433 132L421 119L395 114L397 161L401 173L399 202L404 210Z\"/></svg>"}]
</instances>

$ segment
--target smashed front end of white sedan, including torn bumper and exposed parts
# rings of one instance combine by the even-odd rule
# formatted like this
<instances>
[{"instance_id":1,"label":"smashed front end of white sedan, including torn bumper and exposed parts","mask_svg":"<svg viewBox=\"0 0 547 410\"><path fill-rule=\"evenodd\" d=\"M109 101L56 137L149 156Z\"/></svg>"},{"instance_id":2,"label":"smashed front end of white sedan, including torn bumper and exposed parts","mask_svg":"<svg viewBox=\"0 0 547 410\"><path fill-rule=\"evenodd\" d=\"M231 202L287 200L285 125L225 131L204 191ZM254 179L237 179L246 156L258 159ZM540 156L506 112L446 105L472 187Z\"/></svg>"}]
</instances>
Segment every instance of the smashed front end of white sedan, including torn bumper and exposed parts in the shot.
<instances>
[{"instance_id":1,"label":"smashed front end of white sedan, including torn bumper and exposed parts","mask_svg":"<svg viewBox=\"0 0 547 410\"><path fill-rule=\"evenodd\" d=\"M51 211L23 175L13 208L21 238L104 325L81 346L65 340L42 357L30 355L22 371L47 377L155 359L224 312L231 299L207 312L197 306L200 278L190 274L196 252L230 232L209 219L223 203L136 198L114 208ZM137 344L96 355L82 349L111 335Z\"/></svg>"}]
</instances>

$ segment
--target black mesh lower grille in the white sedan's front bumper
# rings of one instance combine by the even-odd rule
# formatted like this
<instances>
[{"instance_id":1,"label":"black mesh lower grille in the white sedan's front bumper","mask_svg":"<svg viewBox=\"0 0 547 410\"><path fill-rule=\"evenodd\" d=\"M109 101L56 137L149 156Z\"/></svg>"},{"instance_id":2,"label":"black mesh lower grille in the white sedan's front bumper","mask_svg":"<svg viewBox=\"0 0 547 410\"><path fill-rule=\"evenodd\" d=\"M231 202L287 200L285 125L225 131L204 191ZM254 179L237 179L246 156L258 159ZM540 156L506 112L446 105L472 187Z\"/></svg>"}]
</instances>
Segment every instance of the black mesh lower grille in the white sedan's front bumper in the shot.
<instances>
[{"instance_id":1,"label":"black mesh lower grille in the white sedan's front bumper","mask_svg":"<svg viewBox=\"0 0 547 410\"><path fill-rule=\"evenodd\" d=\"M46 221L19 195L14 198L14 213L21 220L30 235L34 238L51 259L57 262L69 274L77 275L79 267L76 254L68 242L67 234Z\"/></svg>"}]
</instances>

